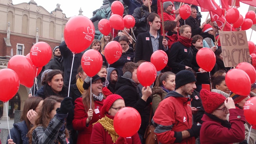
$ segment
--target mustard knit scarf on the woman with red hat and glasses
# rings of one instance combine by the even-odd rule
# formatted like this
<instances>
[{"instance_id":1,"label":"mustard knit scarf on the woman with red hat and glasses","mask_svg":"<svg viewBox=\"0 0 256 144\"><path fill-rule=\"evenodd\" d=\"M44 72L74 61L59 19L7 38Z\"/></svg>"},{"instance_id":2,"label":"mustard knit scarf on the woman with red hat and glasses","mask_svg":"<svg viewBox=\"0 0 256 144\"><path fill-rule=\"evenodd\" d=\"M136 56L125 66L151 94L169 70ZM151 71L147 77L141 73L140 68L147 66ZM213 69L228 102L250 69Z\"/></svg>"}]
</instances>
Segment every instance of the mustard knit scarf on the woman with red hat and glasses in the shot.
<instances>
[{"instance_id":1,"label":"mustard knit scarf on the woman with red hat and glasses","mask_svg":"<svg viewBox=\"0 0 256 144\"><path fill-rule=\"evenodd\" d=\"M108 131L108 134L111 136L112 141L115 143L119 135L115 132L114 125L113 125L114 121L105 115L105 117L98 120L98 122L104 127L106 131Z\"/></svg>"}]
</instances>

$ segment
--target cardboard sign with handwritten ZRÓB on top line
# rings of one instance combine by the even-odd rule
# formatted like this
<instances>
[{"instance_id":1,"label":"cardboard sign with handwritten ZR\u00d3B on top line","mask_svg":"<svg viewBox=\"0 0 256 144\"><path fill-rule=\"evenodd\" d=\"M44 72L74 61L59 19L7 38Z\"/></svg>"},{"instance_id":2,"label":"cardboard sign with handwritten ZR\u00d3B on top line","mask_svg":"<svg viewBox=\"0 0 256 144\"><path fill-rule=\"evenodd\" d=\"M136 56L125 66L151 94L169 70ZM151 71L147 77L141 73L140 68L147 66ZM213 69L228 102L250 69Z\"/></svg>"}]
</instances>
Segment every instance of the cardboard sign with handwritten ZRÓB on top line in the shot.
<instances>
[{"instance_id":1,"label":"cardboard sign with handwritten ZR\u00d3B on top line","mask_svg":"<svg viewBox=\"0 0 256 144\"><path fill-rule=\"evenodd\" d=\"M225 67L251 63L245 31L219 31L219 37Z\"/></svg>"}]
</instances>

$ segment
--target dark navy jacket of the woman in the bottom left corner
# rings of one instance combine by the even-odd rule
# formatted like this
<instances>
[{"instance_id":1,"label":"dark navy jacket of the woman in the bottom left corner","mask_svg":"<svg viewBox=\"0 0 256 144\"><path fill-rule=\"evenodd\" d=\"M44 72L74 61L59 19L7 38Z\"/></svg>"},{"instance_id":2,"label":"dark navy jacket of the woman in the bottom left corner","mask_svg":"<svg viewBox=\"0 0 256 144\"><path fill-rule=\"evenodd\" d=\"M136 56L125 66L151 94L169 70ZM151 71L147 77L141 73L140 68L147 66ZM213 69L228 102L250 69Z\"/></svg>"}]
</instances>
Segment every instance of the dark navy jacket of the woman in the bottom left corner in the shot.
<instances>
[{"instance_id":1,"label":"dark navy jacket of the woman in the bottom left corner","mask_svg":"<svg viewBox=\"0 0 256 144\"><path fill-rule=\"evenodd\" d=\"M13 124L13 128L10 130L11 139L13 139L15 144L28 144L29 139L27 133L28 127L25 121ZM8 135L8 139L10 139L10 135ZM6 144L8 144L8 141L6 141Z\"/></svg>"}]
</instances>

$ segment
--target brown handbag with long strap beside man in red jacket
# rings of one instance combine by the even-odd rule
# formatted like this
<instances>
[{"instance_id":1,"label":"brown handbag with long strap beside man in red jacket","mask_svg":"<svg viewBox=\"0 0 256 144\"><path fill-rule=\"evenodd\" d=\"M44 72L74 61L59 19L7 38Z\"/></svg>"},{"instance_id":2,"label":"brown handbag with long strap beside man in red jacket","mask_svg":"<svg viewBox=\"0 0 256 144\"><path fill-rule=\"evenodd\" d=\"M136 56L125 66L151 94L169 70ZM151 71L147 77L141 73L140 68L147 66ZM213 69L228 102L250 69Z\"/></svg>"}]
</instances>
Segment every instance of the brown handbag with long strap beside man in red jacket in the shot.
<instances>
[{"instance_id":1,"label":"brown handbag with long strap beside man in red jacket","mask_svg":"<svg viewBox=\"0 0 256 144\"><path fill-rule=\"evenodd\" d=\"M150 122L150 120L152 119L151 116L152 116L152 107L150 109L148 126L147 126L145 134L144 134L144 141L145 141L145 144L158 144L156 134L154 133L154 130L156 128Z\"/></svg>"}]
</instances>

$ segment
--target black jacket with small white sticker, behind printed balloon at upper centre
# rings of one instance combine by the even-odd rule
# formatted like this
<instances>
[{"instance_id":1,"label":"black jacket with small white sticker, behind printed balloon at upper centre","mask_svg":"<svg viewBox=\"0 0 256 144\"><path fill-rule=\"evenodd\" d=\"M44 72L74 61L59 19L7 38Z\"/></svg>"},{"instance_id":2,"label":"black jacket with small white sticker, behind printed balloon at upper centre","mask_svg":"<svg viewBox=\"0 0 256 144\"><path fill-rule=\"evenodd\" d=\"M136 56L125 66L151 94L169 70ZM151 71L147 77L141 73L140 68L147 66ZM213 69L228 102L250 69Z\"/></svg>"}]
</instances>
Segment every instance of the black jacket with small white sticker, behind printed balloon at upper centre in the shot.
<instances>
[{"instance_id":1,"label":"black jacket with small white sticker, behind printed balloon at upper centre","mask_svg":"<svg viewBox=\"0 0 256 144\"><path fill-rule=\"evenodd\" d=\"M121 77L123 74L122 68L124 67L124 64L127 62L133 62L133 61L134 61L134 50L132 48L129 48L127 52L122 53L119 60L109 65L109 67L116 68L118 71L118 77Z\"/></svg>"}]
</instances>

